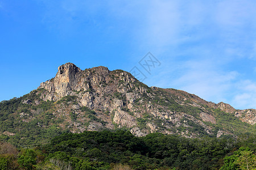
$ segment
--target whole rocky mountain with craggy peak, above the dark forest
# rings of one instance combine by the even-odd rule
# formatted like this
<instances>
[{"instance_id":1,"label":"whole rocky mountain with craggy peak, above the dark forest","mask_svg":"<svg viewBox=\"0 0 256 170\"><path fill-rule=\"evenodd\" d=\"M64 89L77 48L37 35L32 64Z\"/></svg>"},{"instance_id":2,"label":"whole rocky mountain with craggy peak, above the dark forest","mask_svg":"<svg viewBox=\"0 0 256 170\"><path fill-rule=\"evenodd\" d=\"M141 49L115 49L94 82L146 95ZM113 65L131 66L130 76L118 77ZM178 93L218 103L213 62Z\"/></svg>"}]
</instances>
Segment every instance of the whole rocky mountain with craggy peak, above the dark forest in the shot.
<instances>
[{"instance_id":1,"label":"whole rocky mountain with craggy peak, above the dark forest","mask_svg":"<svg viewBox=\"0 0 256 170\"><path fill-rule=\"evenodd\" d=\"M0 139L20 146L47 142L71 131L127 129L149 133L237 138L255 133L256 110L237 110L185 91L148 87L123 70L73 63L59 66L55 78L19 98L0 103Z\"/></svg>"}]
</instances>

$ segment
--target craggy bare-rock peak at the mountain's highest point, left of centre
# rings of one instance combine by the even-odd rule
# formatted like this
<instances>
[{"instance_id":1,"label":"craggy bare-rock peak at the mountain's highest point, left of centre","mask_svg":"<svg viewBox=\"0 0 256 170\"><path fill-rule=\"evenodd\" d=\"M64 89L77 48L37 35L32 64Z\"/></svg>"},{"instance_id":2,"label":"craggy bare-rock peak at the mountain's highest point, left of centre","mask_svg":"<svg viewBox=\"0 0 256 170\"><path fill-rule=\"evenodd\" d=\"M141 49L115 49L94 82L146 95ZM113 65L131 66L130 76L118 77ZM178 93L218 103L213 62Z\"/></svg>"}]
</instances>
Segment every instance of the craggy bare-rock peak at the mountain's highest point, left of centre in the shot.
<instances>
[{"instance_id":1,"label":"craggy bare-rock peak at the mountain's highest point, left of centre","mask_svg":"<svg viewBox=\"0 0 256 170\"><path fill-rule=\"evenodd\" d=\"M65 63L58 67L55 78L40 84L39 88L48 91L42 95L42 99L57 101L67 95L77 95L77 91L84 91L84 95L80 95L87 96L86 99L88 95L92 96L94 91L101 94L101 88L106 86L106 82L112 81L110 73L111 71L104 66L81 70L73 63Z\"/></svg>"}]
</instances>

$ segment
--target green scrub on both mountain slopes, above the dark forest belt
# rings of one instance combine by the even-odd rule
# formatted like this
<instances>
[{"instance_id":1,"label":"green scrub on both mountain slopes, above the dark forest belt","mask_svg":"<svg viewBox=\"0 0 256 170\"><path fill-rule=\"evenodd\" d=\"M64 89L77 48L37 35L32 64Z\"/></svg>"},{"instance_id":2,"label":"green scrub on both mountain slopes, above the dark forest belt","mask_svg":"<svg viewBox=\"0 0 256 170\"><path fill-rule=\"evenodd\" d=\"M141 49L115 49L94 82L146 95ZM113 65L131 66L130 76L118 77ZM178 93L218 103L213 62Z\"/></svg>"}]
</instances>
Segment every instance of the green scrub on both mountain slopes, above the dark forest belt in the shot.
<instances>
[{"instance_id":1,"label":"green scrub on both mountain slopes, above the dark forest belt","mask_svg":"<svg viewBox=\"0 0 256 170\"><path fill-rule=\"evenodd\" d=\"M137 85L138 87L146 86L142 83ZM105 122L98 116L99 112L104 113L106 117L112 117L113 121L114 113L109 111L92 111L89 108L80 107L80 113L76 113L75 110L72 110L71 106L79 105L77 103L77 96L64 96L56 102L43 101L40 96L45 91L43 88L38 88L22 97L0 102L0 139L2 141L13 143L17 147L32 147L47 143L52 137L69 130L77 133L84 131L91 122L99 122L105 127L108 122ZM147 93L151 95L154 93L154 97L151 99ZM190 114L197 120L201 120L200 113L203 110L189 105L191 104L189 100L186 100L183 105L177 103L177 96L164 90L153 91L147 87L147 93L144 92L143 97L134 101L135 106L141 107L141 110L138 112L143 113L143 117L136 117L137 125L141 130L150 131L147 124L152 122L158 127L157 130L159 132L167 130L171 133L177 133L178 131L180 134L186 134L188 137L216 137L219 130L227 131L229 134L233 134L235 138L243 133L250 133L251 135L256 133L256 125L246 124L232 113L225 113L220 109L207 107L207 105L202 107L208 109L207 112L212 113L216 118L216 124L204 122L205 125L211 127L210 133L205 131L204 126L186 117L181 118L180 122L175 123L170 118L160 119L151 113L144 112L146 111L144 106L147 105L148 101L158 105L159 112L165 112L166 110L174 111L174 113L183 112ZM124 103L126 102L126 97L121 93L115 92L113 97L122 99ZM31 100L31 103L24 103L26 100ZM124 104L121 110L128 112L131 116L135 115L134 112L130 112L127 108L127 104ZM57 116L57 114L62 115ZM74 128L75 124L80 124L84 129ZM114 122L112 124L115 128L118 127Z\"/></svg>"}]
</instances>

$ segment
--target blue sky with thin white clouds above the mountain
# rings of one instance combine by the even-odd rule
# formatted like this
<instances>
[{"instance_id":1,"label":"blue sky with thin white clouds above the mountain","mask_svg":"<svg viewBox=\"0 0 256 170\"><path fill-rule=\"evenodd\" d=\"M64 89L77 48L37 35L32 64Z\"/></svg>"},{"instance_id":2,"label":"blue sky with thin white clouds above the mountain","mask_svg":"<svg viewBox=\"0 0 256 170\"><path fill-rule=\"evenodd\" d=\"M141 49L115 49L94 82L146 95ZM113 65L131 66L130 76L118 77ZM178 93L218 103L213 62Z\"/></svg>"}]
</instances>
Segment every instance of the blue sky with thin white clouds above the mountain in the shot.
<instances>
[{"instance_id":1,"label":"blue sky with thin white clouds above the mountain","mask_svg":"<svg viewBox=\"0 0 256 170\"><path fill-rule=\"evenodd\" d=\"M0 100L72 62L136 66L148 86L256 108L256 1L0 0ZM139 61L151 52L150 73Z\"/></svg>"}]
</instances>

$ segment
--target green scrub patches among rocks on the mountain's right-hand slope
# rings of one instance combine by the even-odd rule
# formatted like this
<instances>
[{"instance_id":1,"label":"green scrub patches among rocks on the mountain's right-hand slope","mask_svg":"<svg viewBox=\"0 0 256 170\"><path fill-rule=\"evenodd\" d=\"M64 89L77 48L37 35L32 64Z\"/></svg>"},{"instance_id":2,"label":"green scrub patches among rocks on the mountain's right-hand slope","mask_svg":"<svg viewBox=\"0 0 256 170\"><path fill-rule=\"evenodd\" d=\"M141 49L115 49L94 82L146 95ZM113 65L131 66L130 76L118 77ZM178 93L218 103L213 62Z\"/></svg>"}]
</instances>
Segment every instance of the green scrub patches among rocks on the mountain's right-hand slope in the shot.
<instances>
[{"instance_id":1,"label":"green scrub patches among rocks on the mountain's right-hand slope","mask_svg":"<svg viewBox=\"0 0 256 170\"><path fill-rule=\"evenodd\" d=\"M174 90L174 89L173 89ZM175 90L177 91L177 90ZM201 112L209 112L214 115L214 118L216 118L216 124L212 124L210 122L204 122L204 124L209 125L212 127L212 135L207 134L204 131L204 128L200 126L199 124L195 124L195 122L192 122L186 118L183 118L181 122L186 121L187 125L191 127L180 127L179 131L186 131L189 130L189 133L195 133L199 134L198 137L204 137L205 135L209 137L216 137L218 130L224 130L228 131L230 134L234 135L240 135L244 133L250 133L251 135L256 134L256 124L255 125L250 125L247 124L246 122L242 122L240 118L236 117L234 113L226 113L224 111L221 111L221 109L214 109L210 108L207 105L200 104L200 107L193 107L192 105L189 105L192 103L190 100L185 100L185 104L181 105L177 101L179 99L177 98L176 95L172 95L164 90L159 89L158 91L154 91L155 96L154 99L151 101L155 105L160 105L164 107L165 109L168 109L173 112L183 112L190 114L191 116L198 118L200 120L200 113ZM187 94L191 95L191 94ZM144 95L147 100L150 100L150 98L147 95ZM189 99L189 96L186 96ZM190 96L192 97L192 95ZM204 111L202 108L205 108L206 111ZM164 111L165 109L159 109L160 112ZM144 121L147 121L145 118ZM155 124L160 126L157 121L154 120ZM162 120L162 121L167 121L167 120ZM167 121L168 122L168 121ZM176 129L174 129L175 132Z\"/></svg>"}]
</instances>

